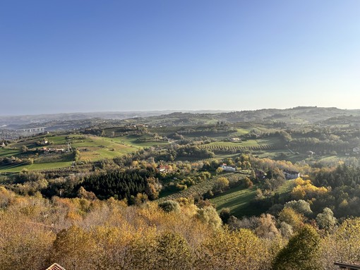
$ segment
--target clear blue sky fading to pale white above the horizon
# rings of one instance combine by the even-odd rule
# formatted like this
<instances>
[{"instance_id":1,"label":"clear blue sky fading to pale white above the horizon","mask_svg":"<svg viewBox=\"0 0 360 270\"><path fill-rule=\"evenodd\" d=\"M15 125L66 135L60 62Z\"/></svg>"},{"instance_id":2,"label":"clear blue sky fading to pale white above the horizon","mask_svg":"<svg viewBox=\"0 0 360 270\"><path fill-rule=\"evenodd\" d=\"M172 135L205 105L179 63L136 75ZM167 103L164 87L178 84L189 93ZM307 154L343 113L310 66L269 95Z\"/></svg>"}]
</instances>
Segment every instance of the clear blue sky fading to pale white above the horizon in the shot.
<instances>
[{"instance_id":1,"label":"clear blue sky fading to pale white above the horizon","mask_svg":"<svg viewBox=\"0 0 360 270\"><path fill-rule=\"evenodd\" d=\"M360 109L359 0L1 0L0 115Z\"/></svg>"}]
</instances>

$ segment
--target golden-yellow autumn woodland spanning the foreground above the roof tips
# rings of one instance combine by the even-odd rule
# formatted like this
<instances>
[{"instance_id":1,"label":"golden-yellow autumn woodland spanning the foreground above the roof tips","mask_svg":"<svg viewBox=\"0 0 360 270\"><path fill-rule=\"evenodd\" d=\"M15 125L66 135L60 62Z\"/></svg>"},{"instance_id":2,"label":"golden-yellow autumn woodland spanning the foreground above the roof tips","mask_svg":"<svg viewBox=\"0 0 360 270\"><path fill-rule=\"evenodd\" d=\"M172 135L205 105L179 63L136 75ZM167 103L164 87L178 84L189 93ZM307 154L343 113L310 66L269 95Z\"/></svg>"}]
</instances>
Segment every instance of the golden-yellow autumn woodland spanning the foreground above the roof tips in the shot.
<instances>
[{"instance_id":1,"label":"golden-yellow autumn woodland spanning the foreground above the roof tips","mask_svg":"<svg viewBox=\"0 0 360 270\"><path fill-rule=\"evenodd\" d=\"M335 269L359 260L360 219L295 205L236 219L178 201L44 199L0 190L0 269ZM349 248L351 247L351 248Z\"/></svg>"}]
</instances>

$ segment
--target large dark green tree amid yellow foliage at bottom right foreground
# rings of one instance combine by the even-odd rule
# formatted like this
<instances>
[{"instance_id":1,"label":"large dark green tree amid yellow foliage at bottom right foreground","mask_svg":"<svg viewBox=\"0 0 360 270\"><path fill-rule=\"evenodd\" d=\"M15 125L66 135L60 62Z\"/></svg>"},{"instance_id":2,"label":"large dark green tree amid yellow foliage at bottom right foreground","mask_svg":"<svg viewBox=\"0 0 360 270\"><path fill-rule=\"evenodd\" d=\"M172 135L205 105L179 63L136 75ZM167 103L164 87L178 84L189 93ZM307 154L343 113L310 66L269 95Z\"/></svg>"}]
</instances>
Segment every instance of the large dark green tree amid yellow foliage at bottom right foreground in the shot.
<instances>
[{"instance_id":1,"label":"large dark green tree amid yellow foliage at bottom right foreground","mask_svg":"<svg viewBox=\"0 0 360 270\"><path fill-rule=\"evenodd\" d=\"M302 227L289 243L280 250L272 264L274 270L314 270L320 269L320 236L311 226Z\"/></svg>"}]
</instances>

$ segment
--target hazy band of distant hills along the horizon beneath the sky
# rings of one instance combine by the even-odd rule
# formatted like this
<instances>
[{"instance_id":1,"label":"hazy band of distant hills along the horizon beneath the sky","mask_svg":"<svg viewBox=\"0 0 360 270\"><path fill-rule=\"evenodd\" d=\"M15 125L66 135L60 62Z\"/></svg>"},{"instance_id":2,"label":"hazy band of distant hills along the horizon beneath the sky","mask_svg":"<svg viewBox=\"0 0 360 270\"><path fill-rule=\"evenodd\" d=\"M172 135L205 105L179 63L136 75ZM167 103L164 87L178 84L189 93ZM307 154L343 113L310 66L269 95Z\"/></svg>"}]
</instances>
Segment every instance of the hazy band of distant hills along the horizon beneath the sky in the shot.
<instances>
[{"instance_id":1,"label":"hazy band of distant hills along the horizon beneath the sky","mask_svg":"<svg viewBox=\"0 0 360 270\"><path fill-rule=\"evenodd\" d=\"M316 106L254 111L124 111L94 113L60 113L36 116L0 116L2 128L46 126L49 130L69 130L92 125L206 125L217 122L284 123L286 125L359 123L360 110Z\"/></svg>"}]
</instances>

